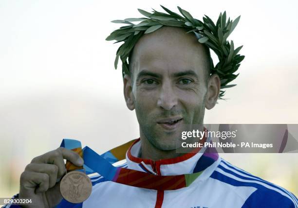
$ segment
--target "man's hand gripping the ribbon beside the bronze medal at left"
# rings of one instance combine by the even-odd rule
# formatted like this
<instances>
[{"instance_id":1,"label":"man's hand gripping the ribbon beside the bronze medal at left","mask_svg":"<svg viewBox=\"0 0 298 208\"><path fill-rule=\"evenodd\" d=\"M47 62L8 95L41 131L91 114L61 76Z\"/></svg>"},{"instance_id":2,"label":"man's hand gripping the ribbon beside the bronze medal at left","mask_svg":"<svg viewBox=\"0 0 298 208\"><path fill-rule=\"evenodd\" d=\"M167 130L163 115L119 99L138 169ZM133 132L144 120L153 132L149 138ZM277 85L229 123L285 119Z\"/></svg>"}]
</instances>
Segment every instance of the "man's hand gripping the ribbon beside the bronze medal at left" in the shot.
<instances>
[{"instance_id":1,"label":"man's hand gripping the ribbon beside the bronze medal at left","mask_svg":"<svg viewBox=\"0 0 298 208\"><path fill-rule=\"evenodd\" d=\"M31 198L32 205L24 207L52 208L60 203L62 196L59 184L66 172L64 159L76 166L82 166L84 163L74 151L59 147L35 157L26 166L20 176L19 198Z\"/></svg>"}]
</instances>

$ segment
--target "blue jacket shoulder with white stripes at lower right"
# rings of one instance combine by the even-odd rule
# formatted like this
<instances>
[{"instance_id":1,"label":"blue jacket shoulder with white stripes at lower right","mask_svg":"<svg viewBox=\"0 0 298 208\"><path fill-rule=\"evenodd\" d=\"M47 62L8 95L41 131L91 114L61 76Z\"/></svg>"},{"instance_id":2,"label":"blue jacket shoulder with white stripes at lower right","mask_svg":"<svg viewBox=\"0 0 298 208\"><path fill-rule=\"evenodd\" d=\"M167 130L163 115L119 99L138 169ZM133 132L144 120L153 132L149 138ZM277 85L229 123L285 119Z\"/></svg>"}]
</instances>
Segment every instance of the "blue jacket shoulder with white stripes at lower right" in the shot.
<instances>
[{"instance_id":1,"label":"blue jacket shoulder with white stripes at lower right","mask_svg":"<svg viewBox=\"0 0 298 208\"><path fill-rule=\"evenodd\" d=\"M223 158L210 177L234 187L255 188L256 191L254 191L245 200L243 208L298 208L298 200L293 193L247 173L246 171L228 163Z\"/></svg>"}]
</instances>

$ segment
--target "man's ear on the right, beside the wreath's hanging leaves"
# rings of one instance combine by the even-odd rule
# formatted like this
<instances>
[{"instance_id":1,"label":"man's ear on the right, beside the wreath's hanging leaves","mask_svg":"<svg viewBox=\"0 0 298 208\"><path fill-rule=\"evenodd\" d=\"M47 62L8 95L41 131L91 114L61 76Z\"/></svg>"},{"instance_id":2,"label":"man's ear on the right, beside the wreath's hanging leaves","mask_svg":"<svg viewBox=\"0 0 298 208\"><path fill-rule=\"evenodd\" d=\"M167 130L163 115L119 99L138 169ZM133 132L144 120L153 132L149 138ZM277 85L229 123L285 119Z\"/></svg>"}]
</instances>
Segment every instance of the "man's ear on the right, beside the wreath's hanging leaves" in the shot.
<instances>
[{"instance_id":1,"label":"man's ear on the right, beside the wreath's hanging leaves","mask_svg":"<svg viewBox=\"0 0 298 208\"><path fill-rule=\"evenodd\" d=\"M213 74L208 81L207 96L205 107L210 110L216 104L219 93L221 90L221 79L217 74Z\"/></svg>"}]
</instances>

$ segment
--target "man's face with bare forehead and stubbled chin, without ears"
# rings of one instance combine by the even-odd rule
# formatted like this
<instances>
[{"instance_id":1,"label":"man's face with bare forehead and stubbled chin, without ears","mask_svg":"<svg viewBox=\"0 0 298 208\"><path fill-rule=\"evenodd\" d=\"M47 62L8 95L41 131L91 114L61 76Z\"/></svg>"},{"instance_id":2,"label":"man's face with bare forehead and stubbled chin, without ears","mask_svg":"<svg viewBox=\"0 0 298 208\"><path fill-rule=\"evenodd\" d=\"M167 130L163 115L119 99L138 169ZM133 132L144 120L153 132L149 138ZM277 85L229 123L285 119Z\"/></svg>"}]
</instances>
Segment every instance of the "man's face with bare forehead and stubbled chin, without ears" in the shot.
<instances>
[{"instance_id":1,"label":"man's face with bare forehead and stubbled chin, without ears","mask_svg":"<svg viewBox=\"0 0 298 208\"><path fill-rule=\"evenodd\" d=\"M186 124L202 124L207 55L194 35L163 27L144 35L133 52L132 100L141 137L176 149Z\"/></svg>"}]
</instances>

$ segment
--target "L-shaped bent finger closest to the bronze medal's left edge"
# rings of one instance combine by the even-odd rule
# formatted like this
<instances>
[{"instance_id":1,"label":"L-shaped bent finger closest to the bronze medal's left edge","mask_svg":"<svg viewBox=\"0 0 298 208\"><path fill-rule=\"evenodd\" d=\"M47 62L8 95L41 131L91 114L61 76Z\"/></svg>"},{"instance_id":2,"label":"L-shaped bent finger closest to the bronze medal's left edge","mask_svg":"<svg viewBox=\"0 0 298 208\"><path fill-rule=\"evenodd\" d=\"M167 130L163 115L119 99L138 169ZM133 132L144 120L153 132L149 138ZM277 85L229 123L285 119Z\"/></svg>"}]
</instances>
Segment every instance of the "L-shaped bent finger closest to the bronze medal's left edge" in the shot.
<instances>
[{"instance_id":1,"label":"L-shaped bent finger closest to the bronze medal's left edge","mask_svg":"<svg viewBox=\"0 0 298 208\"><path fill-rule=\"evenodd\" d=\"M56 184L58 177L58 166L55 164L30 163L26 166L25 171L48 174L49 188L52 188Z\"/></svg>"}]
</instances>

